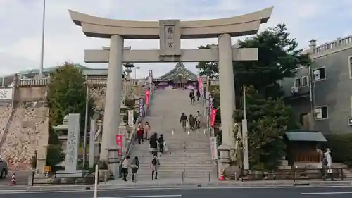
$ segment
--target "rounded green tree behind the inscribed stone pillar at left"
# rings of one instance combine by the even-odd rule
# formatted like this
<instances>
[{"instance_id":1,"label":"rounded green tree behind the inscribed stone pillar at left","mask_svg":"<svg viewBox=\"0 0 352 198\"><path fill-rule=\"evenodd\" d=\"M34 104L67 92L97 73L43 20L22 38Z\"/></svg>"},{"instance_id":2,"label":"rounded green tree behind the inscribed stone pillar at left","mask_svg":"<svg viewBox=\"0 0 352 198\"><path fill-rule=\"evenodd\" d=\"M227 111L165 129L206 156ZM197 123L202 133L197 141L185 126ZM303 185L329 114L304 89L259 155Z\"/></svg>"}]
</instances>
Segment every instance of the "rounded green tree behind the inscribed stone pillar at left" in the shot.
<instances>
[{"instance_id":1,"label":"rounded green tree behind the inscribed stone pillar at left","mask_svg":"<svg viewBox=\"0 0 352 198\"><path fill-rule=\"evenodd\" d=\"M49 148L47 164L55 166L60 163L61 147L58 145L58 136L53 126L63 122L64 116L69 113L81 114L81 131L84 131L84 115L86 108L85 78L79 68L73 64L64 63L51 74L49 83L48 104L49 104ZM92 115L92 101L89 101L89 118Z\"/></svg>"}]
</instances>

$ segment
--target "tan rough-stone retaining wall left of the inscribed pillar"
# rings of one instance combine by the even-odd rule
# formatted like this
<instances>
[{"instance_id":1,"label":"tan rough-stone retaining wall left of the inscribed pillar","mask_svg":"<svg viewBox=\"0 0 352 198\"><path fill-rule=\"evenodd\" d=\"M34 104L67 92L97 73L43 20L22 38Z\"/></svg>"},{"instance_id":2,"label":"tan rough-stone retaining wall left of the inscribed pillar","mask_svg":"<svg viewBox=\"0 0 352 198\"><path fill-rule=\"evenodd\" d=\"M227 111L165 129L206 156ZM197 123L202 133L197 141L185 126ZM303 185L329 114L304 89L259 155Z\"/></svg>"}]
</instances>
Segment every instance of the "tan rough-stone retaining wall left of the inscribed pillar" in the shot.
<instances>
[{"instance_id":1,"label":"tan rough-stone retaining wall left of the inscribed pillar","mask_svg":"<svg viewBox=\"0 0 352 198\"><path fill-rule=\"evenodd\" d=\"M46 107L18 107L13 112L8 132L1 144L1 156L15 170L29 170L34 151L48 143L48 113Z\"/></svg>"}]
</instances>

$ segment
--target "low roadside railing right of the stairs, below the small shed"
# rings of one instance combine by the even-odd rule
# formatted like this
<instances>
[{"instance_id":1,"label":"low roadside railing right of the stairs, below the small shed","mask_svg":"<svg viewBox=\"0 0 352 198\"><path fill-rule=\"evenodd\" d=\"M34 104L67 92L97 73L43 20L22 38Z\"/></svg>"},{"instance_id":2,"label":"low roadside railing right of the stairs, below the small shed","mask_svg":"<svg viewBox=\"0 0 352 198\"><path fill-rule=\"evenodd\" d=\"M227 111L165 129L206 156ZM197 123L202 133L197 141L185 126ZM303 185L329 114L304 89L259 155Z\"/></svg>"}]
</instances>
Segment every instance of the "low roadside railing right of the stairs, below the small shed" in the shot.
<instances>
[{"instance_id":1,"label":"low roadside railing right of the stairs, below the small shed","mask_svg":"<svg viewBox=\"0 0 352 198\"><path fill-rule=\"evenodd\" d=\"M258 181L258 180L352 180L352 171L346 168L331 168L332 174L321 168L291 168L276 171L245 171L239 170L226 173L227 180ZM246 173L248 172L248 173ZM229 174L229 175L226 175Z\"/></svg>"}]
</instances>

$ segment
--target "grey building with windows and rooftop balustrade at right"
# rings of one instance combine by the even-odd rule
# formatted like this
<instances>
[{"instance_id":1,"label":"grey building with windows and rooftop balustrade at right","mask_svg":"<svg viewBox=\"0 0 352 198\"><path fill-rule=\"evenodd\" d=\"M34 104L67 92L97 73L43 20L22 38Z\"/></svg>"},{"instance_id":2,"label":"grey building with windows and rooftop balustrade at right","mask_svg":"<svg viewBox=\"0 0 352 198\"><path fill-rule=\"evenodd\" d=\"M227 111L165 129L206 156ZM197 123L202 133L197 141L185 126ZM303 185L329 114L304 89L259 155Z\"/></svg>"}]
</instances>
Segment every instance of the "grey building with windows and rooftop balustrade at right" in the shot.
<instances>
[{"instance_id":1,"label":"grey building with windows and rooftop balustrade at right","mask_svg":"<svg viewBox=\"0 0 352 198\"><path fill-rule=\"evenodd\" d=\"M305 53L312 66L299 68L295 78L281 82L303 129L352 132L352 36L319 46L311 40Z\"/></svg>"}]
</instances>

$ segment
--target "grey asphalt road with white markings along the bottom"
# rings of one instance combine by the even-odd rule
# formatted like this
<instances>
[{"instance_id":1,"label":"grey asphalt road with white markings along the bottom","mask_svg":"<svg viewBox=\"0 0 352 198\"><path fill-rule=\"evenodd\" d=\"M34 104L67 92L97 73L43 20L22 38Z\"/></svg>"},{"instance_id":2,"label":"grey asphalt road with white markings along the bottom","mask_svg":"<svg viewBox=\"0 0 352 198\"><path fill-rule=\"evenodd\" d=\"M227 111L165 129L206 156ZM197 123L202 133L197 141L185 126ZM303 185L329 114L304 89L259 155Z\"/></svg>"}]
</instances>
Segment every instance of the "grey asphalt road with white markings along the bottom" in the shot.
<instances>
[{"instance_id":1,"label":"grey asphalt road with white markings along the bottom","mask_svg":"<svg viewBox=\"0 0 352 198\"><path fill-rule=\"evenodd\" d=\"M93 198L92 190L61 192L1 192L6 198ZM262 187L262 188L230 188L230 187L191 187L168 189L130 189L100 190L99 198L351 198L351 187Z\"/></svg>"}]
</instances>

